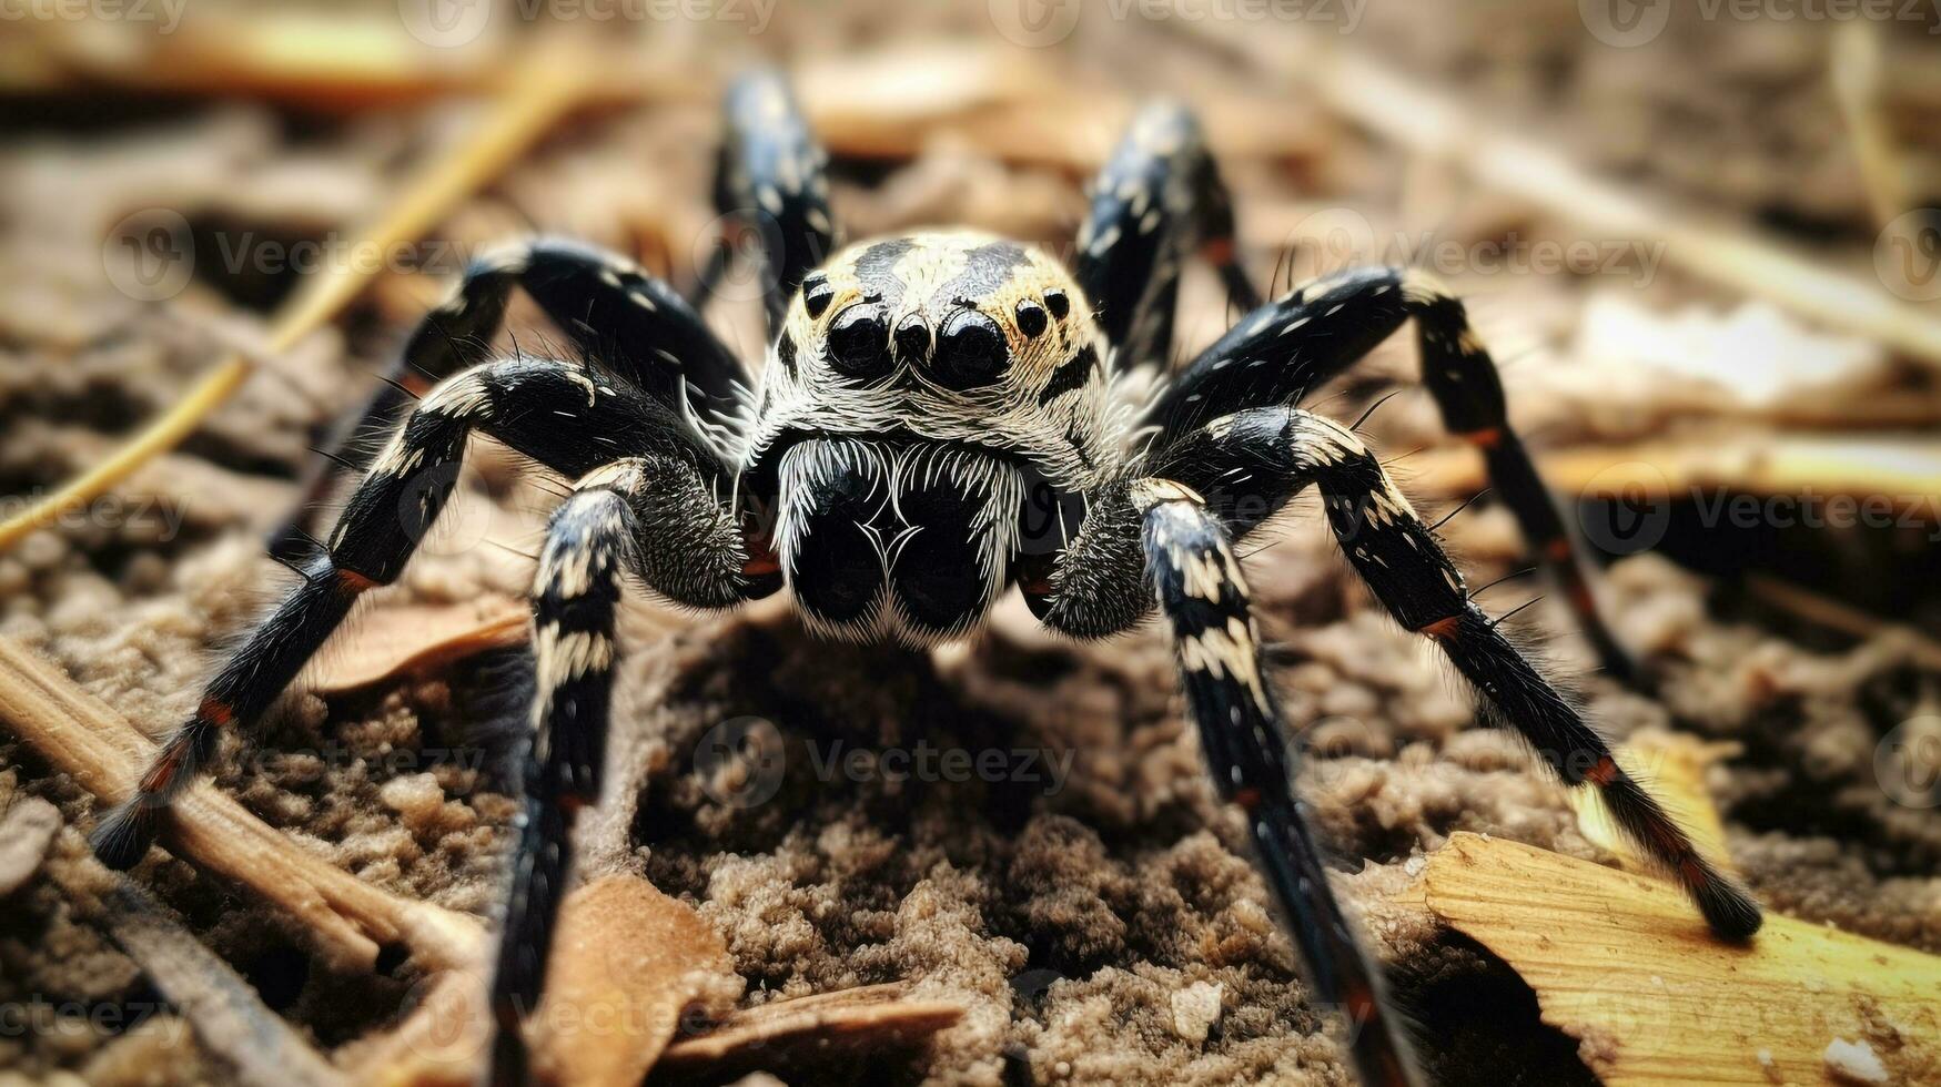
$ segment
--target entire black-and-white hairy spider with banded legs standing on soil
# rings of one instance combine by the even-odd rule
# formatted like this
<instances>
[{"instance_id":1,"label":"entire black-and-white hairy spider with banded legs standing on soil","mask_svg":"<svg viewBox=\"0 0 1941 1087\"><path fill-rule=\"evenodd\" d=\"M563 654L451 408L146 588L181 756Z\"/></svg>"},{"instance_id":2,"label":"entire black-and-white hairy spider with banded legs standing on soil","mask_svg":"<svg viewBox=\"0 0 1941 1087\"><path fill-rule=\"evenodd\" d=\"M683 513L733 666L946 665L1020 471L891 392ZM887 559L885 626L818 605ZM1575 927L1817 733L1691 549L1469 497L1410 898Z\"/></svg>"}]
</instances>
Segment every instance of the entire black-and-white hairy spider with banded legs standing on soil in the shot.
<instances>
[{"instance_id":1,"label":"entire black-and-white hairy spider with banded legs standing on soil","mask_svg":"<svg viewBox=\"0 0 1941 1087\"><path fill-rule=\"evenodd\" d=\"M1075 639L1116 635L1157 609L1207 771L1246 815L1314 998L1349 1017L1363 1081L1417 1081L1293 790L1287 726L1234 559L1234 540L1306 487L1320 491L1349 565L1401 627L1448 656L1493 720L1564 782L1599 790L1718 936L1759 930L1753 899L1475 606L1355 431L1295 406L1413 320L1448 429L1485 452L1528 544L1568 586L1605 664L1623 668L1506 425L1495 363L1442 285L1368 268L1262 301L1234 258L1219 169L1176 103L1145 107L1091 184L1069 272L1029 245L957 229L835 248L827 155L782 80L740 78L724 113L714 200L759 243L769 287L757 392L699 316L724 262L703 272L691 301L631 260L567 241L476 260L408 340L396 384L363 412L359 425L390 427L390 439L328 544L299 563L303 580L214 675L138 794L95 829L107 864L136 864L217 734L254 722L351 604L398 578L452 493L468 437L483 433L573 479L532 588L538 689L491 978L493 1079L526 1073L522 1017L540 1000L575 813L598 796L613 617L631 580L707 609L788 586L819 635L918 646L972 633L1013 584L1044 625ZM1194 254L1246 313L1167 377L1178 276ZM489 357L514 287L578 357ZM1126 388L1141 373L1157 394L1137 404Z\"/></svg>"}]
</instances>

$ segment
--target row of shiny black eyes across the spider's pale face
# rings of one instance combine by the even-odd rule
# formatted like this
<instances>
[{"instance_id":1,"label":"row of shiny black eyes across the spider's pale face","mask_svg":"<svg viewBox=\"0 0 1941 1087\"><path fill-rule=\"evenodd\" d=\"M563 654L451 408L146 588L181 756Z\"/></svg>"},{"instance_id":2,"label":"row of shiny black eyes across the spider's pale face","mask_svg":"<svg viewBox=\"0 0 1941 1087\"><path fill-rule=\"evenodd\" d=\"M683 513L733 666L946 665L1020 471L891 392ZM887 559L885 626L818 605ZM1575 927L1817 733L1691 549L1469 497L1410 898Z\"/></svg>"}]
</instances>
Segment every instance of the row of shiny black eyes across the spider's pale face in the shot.
<instances>
[{"instance_id":1,"label":"row of shiny black eyes across the spider's pale face","mask_svg":"<svg viewBox=\"0 0 1941 1087\"><path fill-rule=\"evenodd\" d=\"M829 280L811 278L804 283L802 305L809 320L819 320L835 299ZM854 379L873 379L893 365L924 367L932 380L945 388L980 388L994 384L1009 367L1011 351L1003 330L990 314L959 299L959 309L943 318L943 328L932 332L922 314L905 316L895 330L875 299L862 299L842 309L829 322L829 365ZM1064 318L1071 299L1060 289L1044 293L1044 301L1019 299L1015 320L1029 338L1042 336L1052 318Z\"/></svg>"}]
</instances>

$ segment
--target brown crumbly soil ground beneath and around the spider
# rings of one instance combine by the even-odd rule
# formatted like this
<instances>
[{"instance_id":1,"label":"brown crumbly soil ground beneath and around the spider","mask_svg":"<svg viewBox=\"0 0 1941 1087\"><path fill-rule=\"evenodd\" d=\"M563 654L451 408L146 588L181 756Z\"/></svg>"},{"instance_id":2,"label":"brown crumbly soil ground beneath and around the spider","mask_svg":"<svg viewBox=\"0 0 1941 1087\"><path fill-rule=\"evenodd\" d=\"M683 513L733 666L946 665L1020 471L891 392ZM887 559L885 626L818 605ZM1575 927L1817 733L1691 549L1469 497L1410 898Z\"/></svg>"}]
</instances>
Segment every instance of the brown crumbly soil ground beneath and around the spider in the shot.
<instances>
[{"instance_id":1,"label":"brown crumbly soil ground beneath and around the spider","mask_svg":"<svg viewBox=\"0 0 1941 1087\"><path fill-rule=\"evenodd\" d=\"M1605 126L1609 140L1576 148L1599 169L1751 219L1811 223L1797 229L1821 241L1871 237L1825 95L1772 91L1819 62L1797 35L1759 37L1689 76L1704 93L1677 97L1640 89L1644 76L1623 56L1559 45L1563 16L1518 21L1516 33L1491 33L1500 23L1485 16L1454 19L1434 43L1392 10L1370 19L1366 33L1411 70L1452 78L1485 101L1541 97L1557 118ZM1155 78L1207 95L1246 85L1192 52ZM1671 105L1691 101L1708 115ZM171 404L221 346L260 336L262 314L293 281L214 270L169 305L130 299L99 274L99 225L113 212L165 192L171 206L198 210L198 235L313 237L380 202L404 149L458 120L452 107L316 118L188 101L120 107L93 130L68 130L78 124L56 116L8 138L0 491L45 491L91 462L107 448L103 435ZM683 237L681 227L708 217L712 124L701 105L584 118L443 233L474 245L540 225L652 260L642 237ZM1687 149L1716 136L1714 169L1654 148L1654 132ZM1242 217L1250 206L1302 212L1312 204L1300 200L1324 200L1386 221L1409 200L1392 151L1330 140L1341 146L1297 165L1231 163ZM839 155L837 210L856 235L951 215L1056 239L1081 206L1075 181L961 144L893 163ZM1471 237L1500 229L1504 215L1524 221L1489 214L1481 196L1462 208L1452 229ZM670 221L677 227L642 227ZM1863 260L1865 248L1842 252ZM1275 252L1250 256L1264 280ZM371 386L413 313L437 297L427 280L384 278L338 328L272 359L124 499L0 555L0 635L148 730L181 720L223 646L289 582L262 555L262 530L297 493L313 427ZM1516 377L1514 413L1539 446L1656 433L1660 419L1644 410L1578 412L1584 375L1572 384L1570 367L1590 365L1576 334L1594 285L1528 276L1458 285L1475 289L1481 330ZM1182 334L1201 344L1223 326L1221 301L1211 283L1188 287ZM1671 305L1694 291L1667 274L1636 297ZM745 313L718 316L732 342L755 344ZM530 314L516 313L514 324L522 344L543 334ZM1405 344L1386 347L1368 373L1403 377L1411 355ZM1879 351L1861 355L1875 388L1931 400L1924 380ZM1545 379L1545 367L1564 377ZM1359 415L1372 384L1382 382L1355 382L1322 410ZM1442 441L1421 392L1382 408L1372 433L1394 452ZM1407 460L1398 470L1407 478ZM516 598L549 501L509 456L485 452L454 524L400 586L363 608ZM1442 532L1471 584L1526 565L1514 524L1487 499ZM1384 908L1384 897L1456 831L1613 858L1580 833L1564 792L1520 745L1477 720L1421 641L1353 584L1312 507L1287 518L1271 547L1256 540L1248 575L1287 718L1310 747L1302 788L1337 858L1337 889L1368 914L1436 1079L1590 1081L1578 1042L1537 1023L1514 972L1460 936ZM1863 538L1838 545L1883 547ZM1541 590L1520 576L1485 600L1508 611ZM1852 592L1863 600L1881 586ZM1656 695L1596 677L1553 600L1512 625L1613 736L1661 726L1741 745L1710 786L1733 860L1768 908L1941 953L1941 821L1896 804L1875 776L1889 732L1941 712L1941 674L1920 664L1918 646L1896 633L1832 635L1741 582L1654 553L1613 563L1603 596L1619 635L1661 675ZM1933 615L1931 594L1910 594L1908 613ZM355 631L353 621L340 642ZM1073 646L1040 633L1011 598L972 644L897 652L817 642L778 602L703 617L635 600L623 644L611 757L623 780L609 817L582 842L588 868L646 875L697 906L726 939L745 1002L912 980L918 994L969 1007L928 1050L839 1070L842 1079L1349 1081L1328 1017L1304 1002L1242 833L1201 776L1157 631ZM505 691L516 689L520 666L520 652L497 652L328 699L297 691L260 732L225 741L215 780L367 881L489 916L514 811L501 761L524 712ZM780 765L710 759L724 722L773 724ZM996 751L1000 769L897 771L899 757L943 765L951 751ZM76 829L91 825L93 802L0 730L0 811L29 796L52 802ZM10 1013L0 1083L219 1081L223 1068L105 934L99 903L62 889L58 875L80 852L78 835L60 835L47 862L0 895L0 1009ZM161 854L136 879L320 1048L355 1052L398 1019L419 980L410 969L318 967L287 918ZM1215 1015L1198 1011L1207 986ZM815 1079L835 1075L804 1077Z\"/></svg>"}]
</instances>

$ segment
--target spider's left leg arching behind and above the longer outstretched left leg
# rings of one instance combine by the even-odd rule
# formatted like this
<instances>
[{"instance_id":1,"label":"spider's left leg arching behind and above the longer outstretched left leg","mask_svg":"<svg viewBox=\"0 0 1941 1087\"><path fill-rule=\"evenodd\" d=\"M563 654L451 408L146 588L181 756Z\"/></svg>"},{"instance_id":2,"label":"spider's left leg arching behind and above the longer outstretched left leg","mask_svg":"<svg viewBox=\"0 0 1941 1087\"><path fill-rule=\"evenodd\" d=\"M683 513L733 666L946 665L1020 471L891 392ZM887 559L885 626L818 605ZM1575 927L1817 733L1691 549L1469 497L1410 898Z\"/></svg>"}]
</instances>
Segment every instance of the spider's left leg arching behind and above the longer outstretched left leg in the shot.
<instances>
[{"instance_id":1,"label":"spider's left leg arching behind and above the longer outstretched left leg","mask_svg":"<svg viewBox=\"0 0 1941 1087\"><path fill-rule=\"evenodd\" d=\"M701 316L666 281L633 260L563 239L509 243L474 260L448 301L433 309L371 400L342 419L305 478L303 497L270 538L270 551L307 557L324 499L347 452L384 435L404 408L454 373L485 361L512 289L524 289L596 365L703 425L732 427L747 375Z\"/></svg>"}]
</instances>

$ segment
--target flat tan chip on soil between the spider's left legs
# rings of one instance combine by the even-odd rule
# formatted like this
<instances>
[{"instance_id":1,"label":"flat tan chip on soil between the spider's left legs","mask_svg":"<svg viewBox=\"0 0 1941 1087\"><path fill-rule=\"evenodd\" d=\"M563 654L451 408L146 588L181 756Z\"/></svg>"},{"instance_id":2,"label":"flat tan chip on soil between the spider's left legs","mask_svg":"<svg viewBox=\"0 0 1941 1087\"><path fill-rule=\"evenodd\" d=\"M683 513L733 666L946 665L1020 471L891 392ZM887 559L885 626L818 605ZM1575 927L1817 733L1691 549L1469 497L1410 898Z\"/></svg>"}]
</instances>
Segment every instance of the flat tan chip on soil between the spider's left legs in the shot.
<instances>
[{"instance_id":1,"label":"flat tan chip on soil between the spider's left legs","mask_svg":"<svg viewBox=\"0 0 1941 1087\"><path fill-rule=\"evenodd\" d=\"M305 672L305 687L336 695L526 642L526 608L503 596L466 604L400 604L361 615Z\"/></svg>"}]
</instances>

